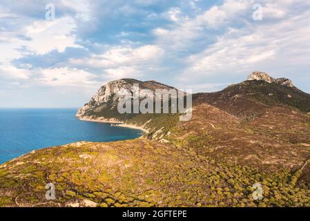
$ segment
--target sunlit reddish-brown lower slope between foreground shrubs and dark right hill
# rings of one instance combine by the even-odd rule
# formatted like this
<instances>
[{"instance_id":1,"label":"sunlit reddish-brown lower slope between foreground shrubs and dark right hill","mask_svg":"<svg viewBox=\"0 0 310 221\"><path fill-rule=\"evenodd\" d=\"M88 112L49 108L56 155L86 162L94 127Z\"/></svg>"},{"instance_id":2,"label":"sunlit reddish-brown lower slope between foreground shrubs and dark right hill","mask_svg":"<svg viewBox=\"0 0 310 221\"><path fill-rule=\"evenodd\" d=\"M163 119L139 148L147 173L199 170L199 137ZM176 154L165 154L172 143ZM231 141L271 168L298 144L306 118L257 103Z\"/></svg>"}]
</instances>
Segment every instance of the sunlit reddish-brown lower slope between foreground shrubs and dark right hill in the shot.
<instances>
[{"instance_id":1,"label":"sunlit reddish-brown lower slope between foreground shrubs and dark right hill","mask_svg":"<svg viewBox=\"0 0 310 221\"><path fill-rule=\"evenodd\" d=\"M264 115L244 121L199 104L194 106L193 119L177 124L165 139L218 162L261 171L295 171L310 158L309 126L309 117L285 108L270 108Z\"/></svg>"}]
</instances>

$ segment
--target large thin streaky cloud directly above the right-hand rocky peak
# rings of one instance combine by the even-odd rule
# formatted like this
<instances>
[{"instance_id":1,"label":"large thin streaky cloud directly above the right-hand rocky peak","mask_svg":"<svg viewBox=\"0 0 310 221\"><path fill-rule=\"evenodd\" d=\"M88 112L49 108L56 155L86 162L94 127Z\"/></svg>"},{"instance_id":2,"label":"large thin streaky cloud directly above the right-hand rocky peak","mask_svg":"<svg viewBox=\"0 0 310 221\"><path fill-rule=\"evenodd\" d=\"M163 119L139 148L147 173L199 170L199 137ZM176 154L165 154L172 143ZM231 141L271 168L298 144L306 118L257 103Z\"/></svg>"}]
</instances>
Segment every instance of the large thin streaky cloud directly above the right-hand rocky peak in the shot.
<instances>
[{"instance_id":1,"label":"large thin streaky cloud directly above the right-hand rocky peak","mask_svg":"<svg viewBox=\"0 0 310 221\"><path fill-rule=\"evenodd\" d=\"M220 75L271 71L274 75L294 75L292 69L310 68L310 12L284 21L252 24L230 30L197 55L188 59L182 81ZM195 78L193 79L193 76Z\"/></svg>"}]
</instances>

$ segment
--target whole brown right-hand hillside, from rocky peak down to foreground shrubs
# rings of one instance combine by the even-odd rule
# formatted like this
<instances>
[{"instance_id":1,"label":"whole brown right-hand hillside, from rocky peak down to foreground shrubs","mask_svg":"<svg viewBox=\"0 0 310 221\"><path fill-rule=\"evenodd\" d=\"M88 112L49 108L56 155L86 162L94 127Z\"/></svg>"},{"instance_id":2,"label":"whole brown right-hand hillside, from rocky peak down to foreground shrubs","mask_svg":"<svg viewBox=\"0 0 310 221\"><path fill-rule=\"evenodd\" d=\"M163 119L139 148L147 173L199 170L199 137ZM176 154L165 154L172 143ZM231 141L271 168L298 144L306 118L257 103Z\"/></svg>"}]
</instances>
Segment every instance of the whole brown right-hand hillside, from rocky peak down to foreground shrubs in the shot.
<instances>
[{"instance_id":1,"label":"whole brown right-hand hillside, from rocky peak down to foreground shrubs","mask_svg":"<svg viewBox=\"0 0 310 221\"><path fill-rule=\"evenodd\" d=\"M218 162L261 171L305 165L299 180L309 185L310 95L289 85L244 81L197 94L193 119L180 122L166 139Z\"/></svg>"}]
</instances>

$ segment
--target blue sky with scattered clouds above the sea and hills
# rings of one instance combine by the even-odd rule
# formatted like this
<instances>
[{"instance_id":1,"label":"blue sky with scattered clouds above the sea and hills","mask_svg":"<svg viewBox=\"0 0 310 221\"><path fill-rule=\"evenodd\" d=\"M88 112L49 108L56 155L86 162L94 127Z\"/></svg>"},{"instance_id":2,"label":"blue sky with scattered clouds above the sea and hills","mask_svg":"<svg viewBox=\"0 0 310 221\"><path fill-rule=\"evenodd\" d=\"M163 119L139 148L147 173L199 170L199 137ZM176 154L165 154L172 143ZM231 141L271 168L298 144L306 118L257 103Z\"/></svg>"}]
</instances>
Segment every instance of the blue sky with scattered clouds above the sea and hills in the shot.
<instances>
[{"instance_id":1,"label":"blue sky with scattered clouds above the sea and hills","mask_svg":"<svg viewBox=\"0 0 310 221\"><path fill-rule=\"evenodd\" d=\"M309 27L309 0L1 0L0 107L77 108L121 78L212 92L253 71L310 93Z\"/></svg>"}]
</instances>

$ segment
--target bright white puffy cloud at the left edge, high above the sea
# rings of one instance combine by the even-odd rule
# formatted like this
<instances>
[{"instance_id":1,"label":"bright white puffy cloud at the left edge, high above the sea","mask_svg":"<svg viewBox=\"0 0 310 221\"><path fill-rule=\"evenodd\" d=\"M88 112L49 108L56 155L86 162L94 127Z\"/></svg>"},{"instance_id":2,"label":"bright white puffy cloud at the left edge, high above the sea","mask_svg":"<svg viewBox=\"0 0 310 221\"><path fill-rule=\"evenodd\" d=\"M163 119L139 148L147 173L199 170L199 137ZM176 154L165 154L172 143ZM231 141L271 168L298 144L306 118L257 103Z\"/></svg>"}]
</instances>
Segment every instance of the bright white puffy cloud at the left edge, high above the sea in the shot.
<instances>
[{"instance_id":1,"label":"bright white puffy cloud at the left edge, high above the sea","mask_svg":"<svg viewBox=\"0 0 310 221\"><path fill-rule=\"evenodd\" d=\"M64 52L67 47L81 47L75 44L75 21L70 17L62 17L55 21L32 21L21 26L19 30L0 30L0 64L10 64L13 59L23 57L28 53L44 55L51 50ZM29 52L19 51L21 48Z\"/></svg>"}]
</instances>

